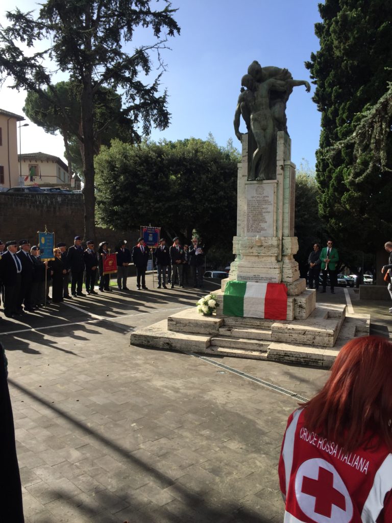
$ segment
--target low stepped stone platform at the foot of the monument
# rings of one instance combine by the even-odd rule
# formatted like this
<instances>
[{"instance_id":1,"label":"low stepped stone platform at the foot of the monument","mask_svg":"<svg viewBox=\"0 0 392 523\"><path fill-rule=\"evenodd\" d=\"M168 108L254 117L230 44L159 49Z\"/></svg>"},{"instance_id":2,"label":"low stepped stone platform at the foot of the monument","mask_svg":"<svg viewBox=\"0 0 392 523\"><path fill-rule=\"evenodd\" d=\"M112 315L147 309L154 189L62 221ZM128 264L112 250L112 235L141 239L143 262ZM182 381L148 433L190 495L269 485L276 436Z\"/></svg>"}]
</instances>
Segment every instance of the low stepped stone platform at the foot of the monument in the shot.
<instances>
[{"instance_id":1,"label":"low stepped stone platform at the foot of the monument","mask_svg":"<svg viewBox=\"0 0 392 523\"><path fill-rule=\"evenodd\" d=\"M134 331L131 345L329 368L340 348L369 328L370 315L347 314L346 305L317 305L306 320L293 321L203 316L192 307Z\"/></svg>"}]
</instances>

